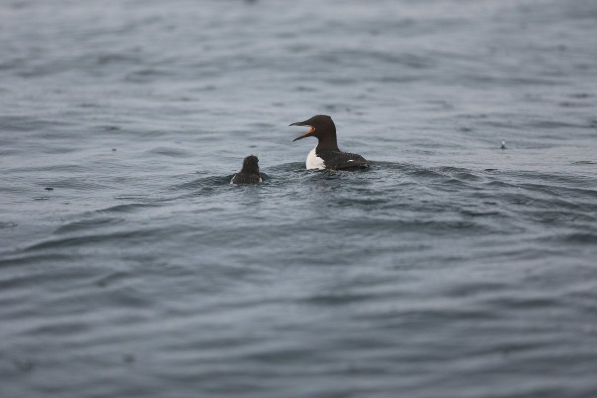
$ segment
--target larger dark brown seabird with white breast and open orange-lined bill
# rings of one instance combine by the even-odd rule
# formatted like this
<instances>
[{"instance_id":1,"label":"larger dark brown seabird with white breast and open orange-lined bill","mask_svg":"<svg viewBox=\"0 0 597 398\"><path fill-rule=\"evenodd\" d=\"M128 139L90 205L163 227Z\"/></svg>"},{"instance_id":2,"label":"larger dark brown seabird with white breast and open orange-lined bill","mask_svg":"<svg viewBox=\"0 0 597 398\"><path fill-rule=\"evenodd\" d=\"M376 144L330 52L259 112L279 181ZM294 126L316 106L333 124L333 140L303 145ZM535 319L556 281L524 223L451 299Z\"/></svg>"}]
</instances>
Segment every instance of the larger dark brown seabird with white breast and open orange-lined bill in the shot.
<instances>
[{"instance_id":1,"label":"larger dark brown seabird with white breast and open orange-lined bill","mask_svg":"<svg viewBox=\"0 0 597 398\"><path fill-rule=\"evenodd\" d=\"M318 144L307 156L307 169L330 169L355 171L369 167L369 163L361 155L342 152L336 141L336 125L327 115L315 115L304 122L292 123L290 126L307 126L311 129L294 138L317 137Z\"/></svg>"}]
</instances>

